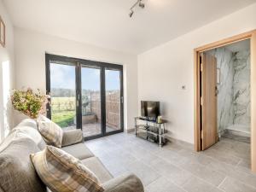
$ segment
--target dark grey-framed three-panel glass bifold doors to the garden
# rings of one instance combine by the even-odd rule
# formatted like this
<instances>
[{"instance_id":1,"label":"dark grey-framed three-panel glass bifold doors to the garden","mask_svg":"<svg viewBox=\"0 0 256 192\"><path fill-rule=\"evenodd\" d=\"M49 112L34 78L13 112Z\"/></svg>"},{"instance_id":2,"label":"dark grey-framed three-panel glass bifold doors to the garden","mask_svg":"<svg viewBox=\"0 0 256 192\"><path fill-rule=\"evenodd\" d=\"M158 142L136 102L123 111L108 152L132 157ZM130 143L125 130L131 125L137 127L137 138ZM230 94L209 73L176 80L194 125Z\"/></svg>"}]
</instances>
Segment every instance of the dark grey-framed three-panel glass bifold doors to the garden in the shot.
<instances>
[{"instance_id":1,"label":"dark grey-framed three-panel glass bifold doors to the garden","mask_svg":"<svg viewBox=\"0 0 256 192\"><path fill-rule=\"evenodd\" d=\"M86 140L124 131L123 67L45 55L47 116L64 130L81 129Z\"/></svg>"}]
</instances>

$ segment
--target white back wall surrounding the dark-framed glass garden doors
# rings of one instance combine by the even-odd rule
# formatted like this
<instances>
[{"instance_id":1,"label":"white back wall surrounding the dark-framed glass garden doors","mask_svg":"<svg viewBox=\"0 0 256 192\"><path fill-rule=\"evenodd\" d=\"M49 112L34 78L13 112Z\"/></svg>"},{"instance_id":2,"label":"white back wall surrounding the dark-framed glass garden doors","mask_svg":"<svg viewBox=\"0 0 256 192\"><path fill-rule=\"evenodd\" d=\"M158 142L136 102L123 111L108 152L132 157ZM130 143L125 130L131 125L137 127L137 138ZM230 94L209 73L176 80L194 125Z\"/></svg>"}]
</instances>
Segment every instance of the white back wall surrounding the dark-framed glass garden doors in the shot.
<instances>
[{"instance_id":1,"label":"white back wall surrounding the dark-framed glass garden doors","mask_svg":"<svg viewBox=\"0 0 256 192\"><path fill-rule=\"evenodd\" d=\"M46 90L45 52L124 65L125 129L133 127L133 117L137 115L136 55L126 55L89 44L15 28L15 85L17 89L31 87ZM20 115L16 115L15 123L19 121Z\"/></svg>"}]
</instances>

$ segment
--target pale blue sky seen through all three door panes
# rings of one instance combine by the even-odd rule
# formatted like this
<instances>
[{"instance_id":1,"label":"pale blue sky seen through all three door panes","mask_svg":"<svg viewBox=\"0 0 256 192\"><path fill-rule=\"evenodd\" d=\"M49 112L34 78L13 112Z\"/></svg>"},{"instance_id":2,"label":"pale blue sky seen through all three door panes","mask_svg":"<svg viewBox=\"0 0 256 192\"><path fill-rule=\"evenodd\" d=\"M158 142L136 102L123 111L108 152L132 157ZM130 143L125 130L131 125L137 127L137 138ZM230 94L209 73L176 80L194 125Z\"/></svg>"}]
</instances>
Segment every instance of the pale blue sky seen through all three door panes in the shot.
<instances>
[{"instance_id":1,"label":"pale blue sky seen through all three door panes","mask_svg":"<svg viewBox=\"0 0 256 192\"><path fill-rule=\"evenodd\" d=\"M100 69L82 67L82 89L100 90ZM119 71L106 70L106 90L119 90ZM75 67L53 64L50 65L51 88L74 89Z\"/></svg>"}]
</instances>

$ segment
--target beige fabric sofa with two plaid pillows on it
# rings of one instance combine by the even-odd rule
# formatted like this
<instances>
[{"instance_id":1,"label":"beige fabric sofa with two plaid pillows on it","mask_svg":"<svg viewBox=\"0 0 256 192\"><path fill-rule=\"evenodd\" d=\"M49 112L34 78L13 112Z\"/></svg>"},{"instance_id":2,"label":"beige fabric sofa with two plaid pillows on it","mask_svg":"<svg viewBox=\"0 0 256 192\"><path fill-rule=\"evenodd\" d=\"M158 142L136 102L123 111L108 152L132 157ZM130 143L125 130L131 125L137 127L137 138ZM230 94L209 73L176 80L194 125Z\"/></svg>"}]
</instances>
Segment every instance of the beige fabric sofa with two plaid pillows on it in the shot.
<instances>
[{"instance_id":1,"label":"beige fabric sofa with two plaid pillows on it","mask_svg":"<svg viewBox=\"0 0 256 192\"><path fill-rule=\"evenodd\" d=\"M64 131L62 149L73 154L96 174L106 192L143 192L143 184L133 174L115 177L83 143L82 131ZM0 191L49 191L35 172L29 154L44 149L46 143L38 132L37 123L25 119L0 144Z\"/></svg>"}]
</instances>

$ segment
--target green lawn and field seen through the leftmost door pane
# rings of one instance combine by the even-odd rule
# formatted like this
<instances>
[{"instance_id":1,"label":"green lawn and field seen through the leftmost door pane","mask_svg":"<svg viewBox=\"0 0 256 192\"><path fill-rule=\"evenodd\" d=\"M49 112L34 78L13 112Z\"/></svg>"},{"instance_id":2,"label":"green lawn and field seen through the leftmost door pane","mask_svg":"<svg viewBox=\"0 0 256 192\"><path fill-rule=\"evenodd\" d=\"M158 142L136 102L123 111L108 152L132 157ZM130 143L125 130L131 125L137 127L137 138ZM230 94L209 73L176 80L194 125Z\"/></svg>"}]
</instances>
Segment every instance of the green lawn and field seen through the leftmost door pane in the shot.
<instances>
[{"instance_id":1,"label":"green lawn and field seen through the leftmost door pane","mask_svg":"<svg viewBox=\"0 0 256 192\"><path fill-rule=\"evenodd\" d=\"M51 119L62 128L74 125L75 97L52 97Z\"/></svg>"}]
</instances>

